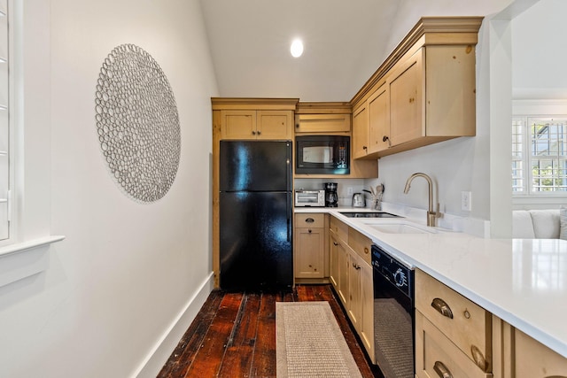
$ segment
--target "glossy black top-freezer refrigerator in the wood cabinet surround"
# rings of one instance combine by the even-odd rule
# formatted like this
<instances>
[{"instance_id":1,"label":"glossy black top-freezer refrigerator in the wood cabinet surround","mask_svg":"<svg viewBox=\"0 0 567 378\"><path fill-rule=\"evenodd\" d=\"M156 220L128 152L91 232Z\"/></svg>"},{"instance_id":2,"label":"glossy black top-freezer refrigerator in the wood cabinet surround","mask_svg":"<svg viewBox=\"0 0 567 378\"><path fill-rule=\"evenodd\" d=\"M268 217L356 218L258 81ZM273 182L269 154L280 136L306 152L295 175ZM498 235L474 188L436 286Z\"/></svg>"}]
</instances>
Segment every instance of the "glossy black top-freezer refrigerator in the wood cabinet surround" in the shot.
<instances>
[{"instance_id":1,"label":"glossy black top-freezer refrigerator in the wood cabinet surround","mask_svg":"<svg viewBox=\"0 0 567 378\"><path fill-rule=\"evenodd\" d=\"M293 284L291 141L221 141L221 289Z\"/></svg>"}]
</instances>

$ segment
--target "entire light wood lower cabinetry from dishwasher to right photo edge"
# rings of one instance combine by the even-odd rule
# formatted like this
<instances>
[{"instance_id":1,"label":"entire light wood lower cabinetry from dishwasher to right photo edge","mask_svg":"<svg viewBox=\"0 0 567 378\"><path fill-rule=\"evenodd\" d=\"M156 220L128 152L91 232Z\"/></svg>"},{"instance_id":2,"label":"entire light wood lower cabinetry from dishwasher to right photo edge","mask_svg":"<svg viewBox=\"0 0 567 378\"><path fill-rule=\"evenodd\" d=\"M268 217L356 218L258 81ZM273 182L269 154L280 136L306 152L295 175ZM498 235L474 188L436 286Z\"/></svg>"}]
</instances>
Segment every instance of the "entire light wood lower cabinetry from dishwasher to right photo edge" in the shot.
<instances>
[{"instance_id":1,"label":"entire light wood lower cabinetry from dishwasher to right photo edge","mask_svg":"<svg viewBox=\"0 0 567 378\"><path fill-rule=\"evenodd\" d=\"M416 269L416 377L567 378L567 359Z\"/></svg>"}]
</instances>

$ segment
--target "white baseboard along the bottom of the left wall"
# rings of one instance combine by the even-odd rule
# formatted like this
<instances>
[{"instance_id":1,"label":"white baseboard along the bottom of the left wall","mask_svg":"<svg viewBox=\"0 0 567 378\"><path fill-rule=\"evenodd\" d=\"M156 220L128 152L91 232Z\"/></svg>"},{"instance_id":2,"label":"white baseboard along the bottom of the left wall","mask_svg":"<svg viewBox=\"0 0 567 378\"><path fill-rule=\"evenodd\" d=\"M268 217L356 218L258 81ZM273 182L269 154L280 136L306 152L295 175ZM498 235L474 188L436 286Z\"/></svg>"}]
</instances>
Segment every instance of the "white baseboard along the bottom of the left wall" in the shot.
<instances>
[{"instance_id":1,"label":"white baseboard along the bottom of the left wall","mask_svg":"<svg viewBox=\"0 0 567 378\"><path fill-rule=\"evenodd\" d=\"M137 378L155 378L159 371L175 350L175 347L182 339L185 331L189 328L191 321L195 319L201 306L205 303L214 288L214 274L211 272L206 280L198 288L197 292L187 302L183 311L180 312L171 325L164 332L158 343L151 349L151 352L144 359L142 364L136 369L132 376Z\"/></svg>"}]
</instances>

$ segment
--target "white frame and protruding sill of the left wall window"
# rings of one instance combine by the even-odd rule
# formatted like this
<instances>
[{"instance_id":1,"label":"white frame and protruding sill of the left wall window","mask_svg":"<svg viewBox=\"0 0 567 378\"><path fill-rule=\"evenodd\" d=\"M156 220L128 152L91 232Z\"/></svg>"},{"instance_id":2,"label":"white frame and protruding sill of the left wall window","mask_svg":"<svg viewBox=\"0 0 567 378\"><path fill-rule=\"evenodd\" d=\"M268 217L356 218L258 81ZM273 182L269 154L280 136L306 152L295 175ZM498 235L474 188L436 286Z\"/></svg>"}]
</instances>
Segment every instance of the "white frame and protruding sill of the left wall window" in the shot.
<instances>
[{"instance_id":1,"label":"white frame and protruding sill of the left wall window","mask_svg":"<svg viewBox=\"0 0 567 378\"><path fill-rule=\"evenodd\" d=\"M50 245L65 238L51 235L50 230L50 2L26 7L23 1L4 1L11 21L8 175L12 196L10 237L0 241L2 289L48 269Z\"/></svg>"}]
</instances>

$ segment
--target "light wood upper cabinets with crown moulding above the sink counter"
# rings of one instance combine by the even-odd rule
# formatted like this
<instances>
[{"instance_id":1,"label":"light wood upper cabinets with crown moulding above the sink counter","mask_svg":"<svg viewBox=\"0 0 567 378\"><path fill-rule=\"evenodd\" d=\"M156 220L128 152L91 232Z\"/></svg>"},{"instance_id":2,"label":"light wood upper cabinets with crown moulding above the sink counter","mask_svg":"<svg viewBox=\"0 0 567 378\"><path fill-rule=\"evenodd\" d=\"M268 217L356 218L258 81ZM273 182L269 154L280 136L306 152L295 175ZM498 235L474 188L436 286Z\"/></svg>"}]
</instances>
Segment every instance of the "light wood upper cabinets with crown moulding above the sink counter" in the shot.
<instances>
[{"instance_id":1,"label":"light wood upper cabinets with crown moulding above the sink counter","mask_svg":"<svg viewBox=\"0 0 567 378\"><path fill-rule=\"evenodd\" d=\"M351 101L353 137L360 135L354 158L380 158L476 134L481 22L457 17L417 23Z\"/></svg>"}]
</instances>

